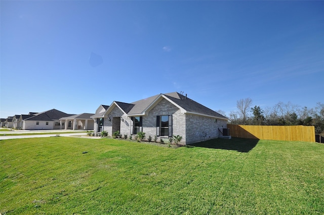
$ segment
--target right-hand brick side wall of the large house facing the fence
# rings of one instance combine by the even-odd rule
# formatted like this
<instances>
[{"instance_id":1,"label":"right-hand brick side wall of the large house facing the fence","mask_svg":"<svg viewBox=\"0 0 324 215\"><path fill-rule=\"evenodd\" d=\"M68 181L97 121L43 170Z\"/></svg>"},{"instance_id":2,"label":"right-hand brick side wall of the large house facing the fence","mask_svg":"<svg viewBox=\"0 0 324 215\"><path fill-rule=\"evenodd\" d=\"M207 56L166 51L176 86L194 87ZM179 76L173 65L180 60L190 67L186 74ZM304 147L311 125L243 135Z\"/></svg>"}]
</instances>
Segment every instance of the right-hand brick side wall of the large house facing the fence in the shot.
<instances>
[{"instance_id":1,"label":"right-hand brick side wall of the large house facing the fence","mask_svg":"<svg viewBox=\"0 0 324 215\"><path fill-rule=\"evenodd\" d=\"M186 114L186 144L218 138L218 128L222 131L226 127L226 120L215 122L215 118Z\"/></svg>"}]
</instances>

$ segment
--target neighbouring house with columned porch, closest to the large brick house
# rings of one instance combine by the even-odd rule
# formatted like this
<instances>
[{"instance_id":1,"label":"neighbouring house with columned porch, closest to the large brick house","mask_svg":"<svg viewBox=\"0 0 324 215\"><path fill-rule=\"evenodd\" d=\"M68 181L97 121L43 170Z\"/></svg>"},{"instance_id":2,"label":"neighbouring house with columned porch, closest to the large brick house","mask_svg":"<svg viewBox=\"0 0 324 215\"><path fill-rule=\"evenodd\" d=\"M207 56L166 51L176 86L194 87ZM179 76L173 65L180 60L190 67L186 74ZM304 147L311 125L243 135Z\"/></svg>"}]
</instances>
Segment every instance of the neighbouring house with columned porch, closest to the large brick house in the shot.
<instances>
[{"instance_id":1,"label":"neighbouring house with columned porch, closest to the large brick house","mask_svg":"<svg viewBox=\"0 0 324 215\"><path fill-rule=\"evenodd\" d=\"M60 118L60 125L61 128L65 130L72 129L72 130L93 130L94 121L90 116L94 115L93 113L82 113L67 117Z\"/></svg>"}]
</instances>

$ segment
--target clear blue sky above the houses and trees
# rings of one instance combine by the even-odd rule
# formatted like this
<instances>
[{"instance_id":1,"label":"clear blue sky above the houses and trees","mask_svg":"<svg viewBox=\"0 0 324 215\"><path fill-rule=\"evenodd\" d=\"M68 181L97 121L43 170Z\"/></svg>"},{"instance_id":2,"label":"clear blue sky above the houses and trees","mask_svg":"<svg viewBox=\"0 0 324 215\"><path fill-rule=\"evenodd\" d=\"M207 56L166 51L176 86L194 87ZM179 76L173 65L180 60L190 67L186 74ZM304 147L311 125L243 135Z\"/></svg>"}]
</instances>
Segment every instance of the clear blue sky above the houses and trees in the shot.
<instances>
[{"instance_id":1,"label":"clear blue sky above the houses and trees","mask_svg":"<svg viewBox=\"0 0 324 215\"><path fill-rule=\"evenodd\" d=\"M324 102L323 1L1 1L0 117L183 91Z\"/></svg>"}]
</instances>

